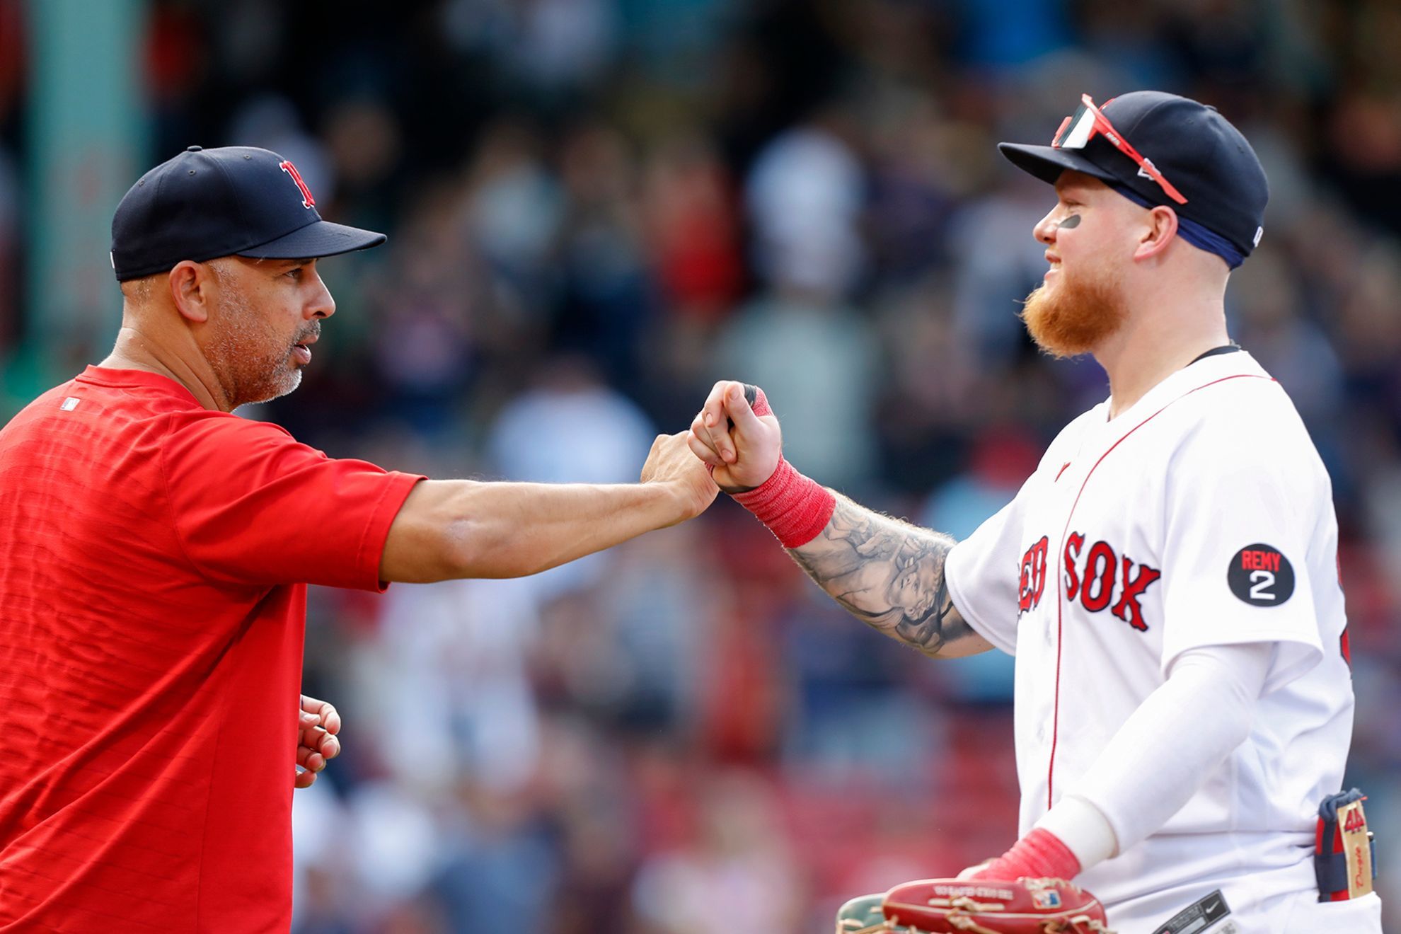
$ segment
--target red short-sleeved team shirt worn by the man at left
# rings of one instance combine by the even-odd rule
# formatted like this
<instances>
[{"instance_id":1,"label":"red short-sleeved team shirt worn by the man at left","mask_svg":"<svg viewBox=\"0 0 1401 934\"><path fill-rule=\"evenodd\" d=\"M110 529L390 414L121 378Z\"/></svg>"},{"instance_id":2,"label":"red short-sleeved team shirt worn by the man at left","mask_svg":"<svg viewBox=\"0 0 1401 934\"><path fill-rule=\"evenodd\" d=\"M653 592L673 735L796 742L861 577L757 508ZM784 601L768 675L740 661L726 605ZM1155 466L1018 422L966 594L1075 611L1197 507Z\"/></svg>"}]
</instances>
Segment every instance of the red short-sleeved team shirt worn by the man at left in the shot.
<instances>
[{"instance_id":1,"label":"red short-sleeved team shirt worn by the man at left","mask_svg":"<svg viewBox=\"0 0 1401 934\"><path fill-rule=\"evenodd\" d=\"M419 479L130 370L0 431L0 930L287 930L305 583Z\"/></svg>"}]
</instances>

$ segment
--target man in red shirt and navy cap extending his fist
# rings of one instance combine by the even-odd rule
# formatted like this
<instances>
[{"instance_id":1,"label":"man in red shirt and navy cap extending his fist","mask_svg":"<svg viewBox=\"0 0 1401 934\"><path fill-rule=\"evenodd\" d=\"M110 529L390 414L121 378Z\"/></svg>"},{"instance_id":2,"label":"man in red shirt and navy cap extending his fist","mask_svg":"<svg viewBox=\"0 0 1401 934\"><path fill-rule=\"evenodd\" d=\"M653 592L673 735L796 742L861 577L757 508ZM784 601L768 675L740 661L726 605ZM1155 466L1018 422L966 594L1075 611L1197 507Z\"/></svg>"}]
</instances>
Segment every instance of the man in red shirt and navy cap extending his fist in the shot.
<instances>
[{"instance_id":1,"label":"man in red shirt and navy cap extending his fist","mask_svg":"<svg viewBox=\"0 0 1401 934\"><path fill-rule=\"evenodd\" d=\"M231 414L311 361L317 259L382 241L256 148L118 206L112 354L0 431L0 930L286 931L290 759L333 753L293 714L305 585L531 574L713 500L684 434L637 485L488 485Z\"/></svg>"}]
</instances>

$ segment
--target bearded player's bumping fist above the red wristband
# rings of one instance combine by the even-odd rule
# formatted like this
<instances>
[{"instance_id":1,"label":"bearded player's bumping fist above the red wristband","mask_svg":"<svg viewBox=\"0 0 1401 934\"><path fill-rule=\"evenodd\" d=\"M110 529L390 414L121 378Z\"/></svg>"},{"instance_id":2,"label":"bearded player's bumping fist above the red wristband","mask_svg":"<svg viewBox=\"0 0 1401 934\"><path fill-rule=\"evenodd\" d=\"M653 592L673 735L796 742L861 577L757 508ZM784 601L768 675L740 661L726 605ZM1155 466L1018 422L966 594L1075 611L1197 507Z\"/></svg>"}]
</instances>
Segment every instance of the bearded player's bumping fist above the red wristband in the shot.
<instances>
[{"instance_id":1,"label":"bearded player's bumping fist above the red wristband","mask_svg":"<svg viewBox=\"0 0 1401 934\"><path fill-rule=\"evenodd\" d=\"M686 442L715 468L722 490L743 493L773 476L783 452L783 431L772 413L754 413L743 382L722 379L691 423Z\"/></svg>"}]
</instances>

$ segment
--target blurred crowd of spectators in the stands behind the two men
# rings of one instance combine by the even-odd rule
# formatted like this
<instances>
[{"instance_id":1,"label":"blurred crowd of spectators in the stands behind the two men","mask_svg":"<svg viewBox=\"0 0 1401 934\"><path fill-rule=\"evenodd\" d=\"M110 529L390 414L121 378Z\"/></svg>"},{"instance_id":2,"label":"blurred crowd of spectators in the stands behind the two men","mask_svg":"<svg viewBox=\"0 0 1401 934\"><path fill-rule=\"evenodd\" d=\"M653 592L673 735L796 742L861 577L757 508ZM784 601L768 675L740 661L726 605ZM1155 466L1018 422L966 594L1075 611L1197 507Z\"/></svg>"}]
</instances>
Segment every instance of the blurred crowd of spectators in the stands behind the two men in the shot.
<instances>
[{"instance_id":1,"label":"blurred crowd of spectators in the stands behind the two men","mask_svg":"<svg viewBox=\"0 0 1401 934\"><path fill-rule=\"evenodd\" d=\"M0 416L119 307L32 340L24 36L0 3ZM153 0L140 42L125 183L263 146L389 234L322 263L315 363L251 417L432 476L628 482L743 378L801 471L955 536L1107 395L1023 335L1052 193L995 143L1086 91L1216 105L1271 179L1231 333L1332 476L1348 781L1401 898L1394 0ZM346 725L296 798L297 934L808 934L1016 835L1010 660L880 637L724 497L535 578L312 591L305 690Z\"/></svg>"}]
</instances>

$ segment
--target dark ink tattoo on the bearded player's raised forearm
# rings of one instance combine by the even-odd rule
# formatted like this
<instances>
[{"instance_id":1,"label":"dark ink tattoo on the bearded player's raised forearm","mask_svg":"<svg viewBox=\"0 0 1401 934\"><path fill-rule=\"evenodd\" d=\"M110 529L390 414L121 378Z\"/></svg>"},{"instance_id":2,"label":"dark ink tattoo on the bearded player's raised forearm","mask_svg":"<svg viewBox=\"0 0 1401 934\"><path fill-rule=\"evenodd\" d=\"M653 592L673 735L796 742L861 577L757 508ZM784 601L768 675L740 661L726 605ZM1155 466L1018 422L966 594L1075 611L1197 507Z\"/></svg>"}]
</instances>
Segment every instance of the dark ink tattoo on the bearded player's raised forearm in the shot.
<instances>
[{"instance_id":1,"label":"dark ink tattoo on the bearded player's raised forearm","mask_svg":"<svg viewBox=\"0 0 1401 934\"><path fill-rule=\"evenodd\" d=\"M954 541L836 497L822 532L789 555L832 599L881 633L937 655L974 636L944 581Z\"/></svg>"}]
</instances>

